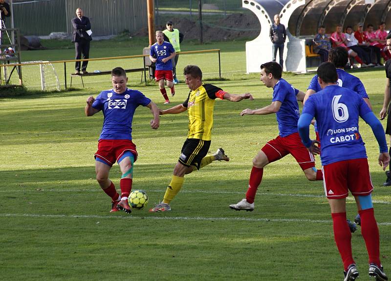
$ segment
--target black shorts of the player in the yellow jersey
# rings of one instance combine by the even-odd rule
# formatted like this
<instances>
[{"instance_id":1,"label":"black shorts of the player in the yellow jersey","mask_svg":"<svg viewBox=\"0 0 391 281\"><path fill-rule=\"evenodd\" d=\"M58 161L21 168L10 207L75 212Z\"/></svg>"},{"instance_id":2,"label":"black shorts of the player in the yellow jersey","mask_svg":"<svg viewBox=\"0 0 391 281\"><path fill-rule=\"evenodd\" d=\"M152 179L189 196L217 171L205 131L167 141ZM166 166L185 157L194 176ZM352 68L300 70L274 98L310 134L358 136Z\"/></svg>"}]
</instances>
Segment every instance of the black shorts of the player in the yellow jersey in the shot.
<instances>
[{"instance_id":1,"label":"black shorts of the player in the yellow jersey","mask_svg":"<svg viewBox=\"0 0 391 281\"><path fill-rule=\"evenodd\" d=\"M201 160L206 156L211 146L211 141L200 139L186 139L179 157L179 163L186 167L195 166L199 170Z\"/></svg>"}]
</instances>

